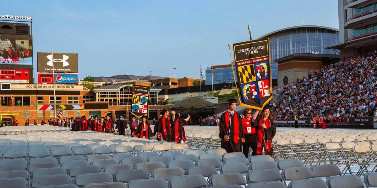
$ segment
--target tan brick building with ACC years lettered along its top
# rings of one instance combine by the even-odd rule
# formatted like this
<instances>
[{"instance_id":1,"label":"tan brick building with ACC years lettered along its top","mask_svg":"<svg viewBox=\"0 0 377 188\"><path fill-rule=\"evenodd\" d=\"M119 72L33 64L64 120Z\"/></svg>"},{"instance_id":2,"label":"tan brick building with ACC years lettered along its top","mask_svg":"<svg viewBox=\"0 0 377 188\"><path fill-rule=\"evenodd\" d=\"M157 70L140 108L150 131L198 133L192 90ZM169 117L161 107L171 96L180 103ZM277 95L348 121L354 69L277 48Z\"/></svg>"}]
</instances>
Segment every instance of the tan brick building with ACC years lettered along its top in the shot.
<instances>
[{"instance_id":1,"label":"tan brick building with ACC years lettered along its top","mask_svg":"<svg viewBox=\"0 0 377 188\"><path fill-rule=\"evenodd\" d=\"M129 120L130 88L132 85L109 85L89 90L82 85L55 85L56 109L61 108L61 118L112 114L113 117L124 115ZM150 119L157 117L159 110L168 108L158 103L160 90L150 90ZM1 90L0 98L0 118L4 120L18 120L20 125L24 125L26 120L30 124L34 120L40 124L41 120L47 122L55 118L54 89L51 84L12 84L11 89Z\"/></svg>"}]
</instances>

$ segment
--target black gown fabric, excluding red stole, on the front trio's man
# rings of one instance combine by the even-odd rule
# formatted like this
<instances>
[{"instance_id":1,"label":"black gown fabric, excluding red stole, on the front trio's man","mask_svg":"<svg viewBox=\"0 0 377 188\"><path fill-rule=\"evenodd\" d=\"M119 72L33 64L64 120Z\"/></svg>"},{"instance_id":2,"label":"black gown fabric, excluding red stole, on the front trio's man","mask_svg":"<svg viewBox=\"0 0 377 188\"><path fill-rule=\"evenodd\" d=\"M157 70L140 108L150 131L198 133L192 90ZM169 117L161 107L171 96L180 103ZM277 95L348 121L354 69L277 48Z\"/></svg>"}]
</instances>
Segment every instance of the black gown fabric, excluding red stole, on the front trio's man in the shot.
<instances>
[{"instance_id":1,"label":"black gown fabric, excluding red stole, on the front trio's man","mask_svg":"<svg viewBox=\"0 0 377 188\"><path fill-rule=\"evenodd\" d=\"M225 122L225 113L228 113L228 111L225 111L220 118L220 132L219 136L222 139L221 140L221 148L227 150L227 153L231 152L241 152L241 146L242 141L241 138L244 138L244 130L242 128L242 121L241 121L241 115L238 114L238 112L234 111L233 115L230 115L230 135L229 135L229 141L224 142L224 136L227 135L226 125L228 122ZM234 116L238 117L238 143L236 144L234 142ZM229 127L228 127L229 129Z\"/></svg>"}]
</instances>

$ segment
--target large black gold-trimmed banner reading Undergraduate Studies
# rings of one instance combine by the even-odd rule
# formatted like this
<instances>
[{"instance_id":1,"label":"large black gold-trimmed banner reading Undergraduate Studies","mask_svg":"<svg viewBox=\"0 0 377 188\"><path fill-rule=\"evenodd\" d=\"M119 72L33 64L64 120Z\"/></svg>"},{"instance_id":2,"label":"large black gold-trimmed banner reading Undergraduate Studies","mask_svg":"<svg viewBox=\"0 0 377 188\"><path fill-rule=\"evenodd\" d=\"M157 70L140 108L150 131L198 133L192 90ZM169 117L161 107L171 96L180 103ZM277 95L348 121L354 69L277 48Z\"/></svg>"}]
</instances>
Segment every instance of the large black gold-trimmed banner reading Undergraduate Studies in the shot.
<instances>
[{"instance_id":1,"label":"large black gold-trimmed banner reading Undergraduate Studies","mask_svg":"<svg viewBox=\"0 0 377 188\"><path fill-rule=\"evenodd\" d=\"M262 110L272 99L269 44L269 39L233 44L241 106Z\"/></svg>"}]
</instances>

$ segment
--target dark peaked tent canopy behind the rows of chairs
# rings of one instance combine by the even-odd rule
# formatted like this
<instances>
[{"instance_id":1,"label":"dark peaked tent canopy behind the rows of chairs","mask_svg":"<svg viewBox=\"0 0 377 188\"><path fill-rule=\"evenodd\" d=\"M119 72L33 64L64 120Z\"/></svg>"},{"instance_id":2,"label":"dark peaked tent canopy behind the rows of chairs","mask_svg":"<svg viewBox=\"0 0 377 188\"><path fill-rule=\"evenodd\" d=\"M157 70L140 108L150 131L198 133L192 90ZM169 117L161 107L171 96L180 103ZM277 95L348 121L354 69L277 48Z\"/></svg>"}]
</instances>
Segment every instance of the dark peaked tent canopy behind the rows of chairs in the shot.
<instances>
[{"instance_id":1,"label":"dark peaked tent canopy behind the rows of chairs","mask_svg":"<svg viewBox=\"0 0 377 188\"><path fill-rule=\"evenodd\" d=\"M169 109L175 109L175 110L217 109L217 108L218 107L215 106L213 103L208 102L204 99L196 98L196 97L189 97L169 107Z\"/></svg>"}]
</instances>

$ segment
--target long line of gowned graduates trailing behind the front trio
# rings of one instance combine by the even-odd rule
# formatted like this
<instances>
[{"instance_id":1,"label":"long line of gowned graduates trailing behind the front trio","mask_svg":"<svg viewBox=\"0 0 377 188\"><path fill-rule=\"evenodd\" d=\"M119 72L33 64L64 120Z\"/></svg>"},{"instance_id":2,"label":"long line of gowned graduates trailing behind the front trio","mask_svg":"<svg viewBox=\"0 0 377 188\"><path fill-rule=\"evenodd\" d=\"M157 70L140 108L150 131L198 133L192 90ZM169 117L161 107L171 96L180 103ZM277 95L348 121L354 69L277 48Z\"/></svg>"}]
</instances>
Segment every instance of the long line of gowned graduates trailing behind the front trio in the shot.
<instances>
[{"instance_id":1,"label":"long line of gowned graduates trailing behind the front trio","mask_svg":"<svg viewBox=\"0 0 377 188\"><path fill-rule=\"evenodd\" d=\"M100 119L97 115L90 117L88 120L85 115L82 117L76 117L75 119L73 117L68 118L63 121L54 119L52 121L48 120L48 124L52 126L71 127L74 131L92 130L104 133L115 133L115 131L117 131L119 135L126 135L126 131L129 128L132 137L150 139L152 136L157 136L158 140L184 143L186 141L184 126L189 124L190 115L183 119L181 118L180 113L177 113L174 110L172 110L171 113L172 117L169 116L169 111L164 109L159 115L159 120L153 131L146 116L140 118L140 123L136 120L136 117L133 116L128 123L128 126L122 115L118 121L114 122L109 114Z\"/></svg>"}]
</instances>

